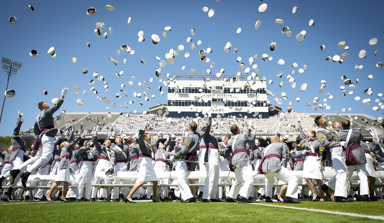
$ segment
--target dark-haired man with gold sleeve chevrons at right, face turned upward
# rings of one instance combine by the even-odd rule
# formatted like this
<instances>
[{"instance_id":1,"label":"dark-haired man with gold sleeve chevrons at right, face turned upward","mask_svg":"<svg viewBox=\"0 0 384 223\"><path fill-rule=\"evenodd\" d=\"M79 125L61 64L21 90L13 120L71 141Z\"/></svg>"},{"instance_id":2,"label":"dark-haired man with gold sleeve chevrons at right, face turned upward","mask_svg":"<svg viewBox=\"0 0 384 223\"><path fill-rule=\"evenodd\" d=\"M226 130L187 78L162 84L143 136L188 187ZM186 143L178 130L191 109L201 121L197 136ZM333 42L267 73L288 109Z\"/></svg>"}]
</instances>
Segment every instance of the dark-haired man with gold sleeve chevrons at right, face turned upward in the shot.
<instances>
[{"instance_id":1,"label":"dark-haired man with gold sleeve chevrons at right, face turned upward","mask_svg":"<svg viewBox=\"0 0 384 223\"><path fill-rule=\"evenodd\" d=\"M327 120L324 119L324 117L318 116L314 119L314 122L318 126L316 138L319 140L320 145L323 146L325 150L331 150L332 166L336 171L334 178L331 178L332 182L334 180L336 181L332 188L334 191L334 200L335 202L353 202L353 200L347 198L347 167L342 157L342 146L346 145L346 142L337 142L338 136L325 129L327 127ZM323 183L320 187L329 197L331 196L328 182Z\"/></svg>"}]
</instances>

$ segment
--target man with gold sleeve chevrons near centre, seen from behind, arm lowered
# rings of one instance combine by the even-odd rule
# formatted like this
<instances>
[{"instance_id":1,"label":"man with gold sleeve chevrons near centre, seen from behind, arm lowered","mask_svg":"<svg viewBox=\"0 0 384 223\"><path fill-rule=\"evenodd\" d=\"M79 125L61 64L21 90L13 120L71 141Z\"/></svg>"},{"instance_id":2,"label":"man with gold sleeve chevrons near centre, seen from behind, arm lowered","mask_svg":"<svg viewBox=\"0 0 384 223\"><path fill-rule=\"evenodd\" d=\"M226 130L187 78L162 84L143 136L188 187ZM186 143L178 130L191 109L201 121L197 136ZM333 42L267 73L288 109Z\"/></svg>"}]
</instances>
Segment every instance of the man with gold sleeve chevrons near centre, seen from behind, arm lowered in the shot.
<instances>
[{"instance_id":1,"label":"man with gold sleeve chevrons near centre, seen from behind, arm lowered","mask_svg":"<svg viewBox=\"0 0 384 223\"><path fill-rule=\"evenodd\" d=\"M175 155L170 157L170 161L177 160L176 172L177 172L177 184L180 188L182 203L195 203L196 199L192 195L188 186L188 176L191 171L195 171L197 161L197 150L199 149L199 143L204 135L204 129L199 133L196 132L197 124L192 122L189 124L189 135L183 142L179 151L175 152Z\"/></svg>"}]
</instances>

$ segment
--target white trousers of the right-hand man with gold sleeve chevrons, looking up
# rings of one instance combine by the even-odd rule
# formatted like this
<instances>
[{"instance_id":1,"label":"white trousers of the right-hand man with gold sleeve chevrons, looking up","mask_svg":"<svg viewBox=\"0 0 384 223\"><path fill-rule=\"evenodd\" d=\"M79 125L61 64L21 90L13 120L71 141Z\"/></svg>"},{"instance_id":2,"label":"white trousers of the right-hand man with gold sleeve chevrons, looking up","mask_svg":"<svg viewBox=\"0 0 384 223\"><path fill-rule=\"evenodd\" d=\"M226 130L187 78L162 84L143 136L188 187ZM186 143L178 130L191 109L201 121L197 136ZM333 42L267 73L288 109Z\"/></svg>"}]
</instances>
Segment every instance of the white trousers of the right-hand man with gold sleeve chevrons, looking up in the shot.
<instances>
[{"instance_id":1,"label":"white trousers of the right-hand man with gold sleeve chevrons, looking up","mask_svg":"<svg viewBox=\"0 0 384 223\"><path fill-rule=\"evenodd\" d=\"M341 156L343 149L341 147L331 148L332 166L336 171L331 179L326 182L326 185L334 191L334 196L347 197L347 167L345 160Z\"/></svg>"}]
</instances>

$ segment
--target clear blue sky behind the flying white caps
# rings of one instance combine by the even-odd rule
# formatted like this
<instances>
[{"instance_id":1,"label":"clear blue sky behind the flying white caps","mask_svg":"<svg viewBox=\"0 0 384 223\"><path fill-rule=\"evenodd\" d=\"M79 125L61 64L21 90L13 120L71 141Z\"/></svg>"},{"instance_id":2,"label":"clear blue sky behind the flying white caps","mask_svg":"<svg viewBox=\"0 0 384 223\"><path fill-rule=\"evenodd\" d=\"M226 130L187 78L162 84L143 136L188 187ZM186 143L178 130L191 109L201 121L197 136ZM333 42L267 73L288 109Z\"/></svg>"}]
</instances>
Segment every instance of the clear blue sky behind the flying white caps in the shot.
<instances>
[{"instance_id":1,"label":"clear blue sky behind the flying white caps","mask_svg":"<svg viewBox=\"0 0 384 223\"><path fill-rule=\"evenodd\" d=\"M258 12L258 7L268 4L264 13ZM115 10L108 11L105 5L112 5ZM293 102L296 111L313 112L312 105L306 107L306 103L313 103L314 97L323 99L328 98L327 93L332 94L332 100L326 102L331 109L318 109L318 112L341 113L342 108L351 107L351 113L366 113L375 117L382 116L382 111L373 111L372 107L377 106L375 99L381 99L377 94L383 93L379 83L383 81L382 73L384 69L379 69L376 64L382 61L382 42L384 39L382 24L383 1L230 1L221 0L195 0L190 1L2 1L0 3L0 25L1 35L1 57L14 59L23 63L22 68L16 76L10 78L8 89L16 91L16 96L7 98L0 123L0 135L12 134L16 122L17 110L20 109L25 122L22 129L33 126L36 114L39 110L37 103L40 101L50 102L52 98L59 97L61 89L68 87L70 90L65 98L62 109L67 112L106 112L109 106L111 112L128 112L129 110L142 112L157 103L166 103L166 93L160 96L157 93L159 78L155 71L159 69L159 61L156 56L166 60L165 54L172 48L177 50L177 46L184 45L184 51L180 56L175 57L174 64L168 64L162 68L162 78L166 79L166 74L189 74L190 69L195 69L196 74L202 74L206 69L211 69L212 73L225 69L224 74L235 75L239 68L236 61L238 56L242 57L245 67L248 65L248 58L259 55L255 60L258 64L259 74L266 76L267 80L273 80L273 84L268 88L272 93L278 94L282 99L282 92L285 92L288 101L283 99L281 107L286 110L288 102ZM28 5L32 5L35 11L30 12ZM292 13L293 6L299 9L295 14ZM90 17L86 14L89 7L97 10L97 15ZM213 8L214 17L209 18L208 13L202 11L203 7ZM16 17L17 24L11 25L9 17ZM128 17L133 20L127 24ZM284 24L275 23L276 17L284 20ZM314 26L309 26L308 22L313 19ZM255 22L261 20L262 23L258 30L255 30ZM113 35L105 39L97 37L94 33L97 22L104 22L104 32L108 32L108 27L113 27ZM164 27L171 26L171 31L167 31L167 38L162 37ZM287 37L281 33L284 26L289 26L292 36ZM242 28L240 33L236 33L237 28ZM195 36L192 36L190 29L195 29ZM144 31L145 41L139 43L137 40L139 31ZM306 30L305 39L301 42L296 40L296 35L300 31ZM157 45L151 41L151 35L157 34L161 40ZM192 37L192 42L187 43L187 38ZM368 44L371 38L377 38L378 43L374 46ZM201 40L202 44L197 45ZM223 51L227 42L232 44L228 53ZM270 51L269 45L276 41L275 51ZM349 50L340 50L338 43L346 41ZM86 43L91 44L86 48ZM190 44L195 43L194 50L190 49ZM130 55L122 51L120 47L128 45L135 51ZM320 46L325 45L325 50L321 51ZM50 47L55 47L56 59L51 59L46 52ZM215 68L210 68L210 63L199 60L199 50L212 48L213 52L207 57L215 62ZM233 49L237 48L237 53L233 54ZM29 55L31 50L38 52L38 57L33 58ZM120 50L121 54L116 55L115 51ZM366 58L359 58L359 51L366 50ZM376 50L382 52L379 56L374 56ZM184 53L189 52L190 57L185 58ZM272 56L272 61L262 61L262 54ZM327 56L348 53L349 58L344 60L344 64L325 62ZM71 58L77 58L77 63L72 63ZM113 57L120 63L115 66L109 62L109 57ZM123 59L127 63L123 64ZM146 64L140 63L144 59ZM278 65L278 59L284 59L284 65ZM384 60L383 60L384 61ZM298 68L293 68L291 64L297 63ZM299 73L298 69L307 64L304 73ZM363 65L363 69L354 69L355 65ZM182 70L182 66L185 69ZM89 69L88 74L82 74L81 69ZM291 70L295 74L291 74ZM278 78L278 71L283 71L283 77ZM92 76L93 71L97 71L99 76L103 75L108 82L109 93L104 93L104 84L97 83L97 78ZM124 71L118 78L115 74ZM291 74L295 78L297 87L290 88L290 83L286 76ZM369 80L368 75L372 74L373 79ZM347 76L353 82L359 78L360 84L356 89L346 86L347 96L341 95L340 86L343 81L342 75ZM133 86L128 86L127 82L131 76L136 76ZM150 78L154 78L152 83ZM91 79L96 83L89 85ZM324 93L319 94L320 81L326 80ZM2 72L0 76L0 89L5 90L7 75ZM148 93L150 100L144 101L144 97L134 98L133 92L143 93L137 83L145 83L146 88L151 88ZM279 83L283 81L284 87L280 88ZM300 86L308 84L306 91L301 91ZM121 88L121 84L125 84ZM80 88L80 95L75 95L74 86ZM100 97L108 97L111 104L104 104L97 100L96 95L89 89L95 87ZM372 88L372 95L362 93L366 88ZM128 97L116 99L116 93L120 89L127 92ZM164 89L164 88L163 88ZM43 96L43 90L48 91L48 95ZM83 95L83 90L87 94ZM348 92L353 91L352 95ZM151 98L154 94L155 99ZM356 96L361 97L355 101ZM296 102L295 98L300 97ZM76 100L84 99L84 104L79 106ZM273 97L268 97L273 102ZM371 99L371 106L367 106L362 99ZM128 109L120 109L124 102L135 100L135 104L128 104ZM140 105L140 101L144 103ZM112 107L116 103L117 107ZM51 102L50 102L51 104ZM380 107L380 106L378 106Z\"/></svg>"}]
</instances>

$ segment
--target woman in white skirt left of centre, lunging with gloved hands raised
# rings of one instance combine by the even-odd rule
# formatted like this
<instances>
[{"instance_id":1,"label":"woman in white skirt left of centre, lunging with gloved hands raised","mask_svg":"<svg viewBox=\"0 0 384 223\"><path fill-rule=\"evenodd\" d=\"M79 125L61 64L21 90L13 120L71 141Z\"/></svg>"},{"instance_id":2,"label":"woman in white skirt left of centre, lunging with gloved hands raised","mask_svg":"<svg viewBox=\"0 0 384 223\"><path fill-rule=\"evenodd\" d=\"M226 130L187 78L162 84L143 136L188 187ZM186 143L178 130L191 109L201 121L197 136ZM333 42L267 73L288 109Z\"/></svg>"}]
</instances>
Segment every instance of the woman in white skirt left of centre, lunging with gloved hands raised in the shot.
<instances>
[{"instance_id":1,"label":"woman in white skirt left of centre, lunging with gloved hands raised","mask_svg":"<svg viewBox=\"0 0 384 223\"><path fill-rule=\"evenodd\" d=\"M159 142L160 132L157 134L157 138L151 142L151 134L145 133L145 130L149 126L149 122L145 123L143 129L139 131L139 137L137 138L137 144L139 145L139 160L138 170L139 182L137 182L128 197L125 198L125 203L136 203L132 201L132 195L140 188L146 181L152 182L153 202L159 202L156 198L157 193L157 177L152 165L152 148Z\"/></svg>"}]
</instances>

